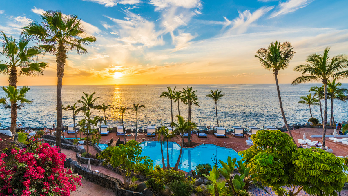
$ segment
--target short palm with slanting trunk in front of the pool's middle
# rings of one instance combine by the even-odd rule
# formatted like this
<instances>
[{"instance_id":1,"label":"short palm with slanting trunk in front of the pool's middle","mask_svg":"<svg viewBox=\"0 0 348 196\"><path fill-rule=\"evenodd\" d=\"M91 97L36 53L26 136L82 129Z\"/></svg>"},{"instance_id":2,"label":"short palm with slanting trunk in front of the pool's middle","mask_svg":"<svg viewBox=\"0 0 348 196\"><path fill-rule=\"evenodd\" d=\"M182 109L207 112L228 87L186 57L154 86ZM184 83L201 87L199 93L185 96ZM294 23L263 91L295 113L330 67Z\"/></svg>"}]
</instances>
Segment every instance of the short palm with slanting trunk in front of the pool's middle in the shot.
<instances>
[{"instance_id":1,"label":"short palm with slanting trunk in front of the pool's middle","mask_svg":"<svg viewBox=\"0 0 348 196\"><path fill-rule=\"evenodd\" d=\"M186 121L184 119L184 117L179 116L179 115L176 115L176 117L177 117L177 123L173 122L171 124L172 127L176 127L173 132L181 133L183 135L185 132L188 132L191 129L197 128L196 123L191 123L190 121ZM176 161L176 164L175 164L173 170L177 170L179 168L179 163L180 163L180 159L181 159L181 153L182 153L183 146L184 146L184 137L182 137L182 139L181 139L181 147L180 147L179 157L177 158L177 161Z\"/></svg>"}]
</instances>

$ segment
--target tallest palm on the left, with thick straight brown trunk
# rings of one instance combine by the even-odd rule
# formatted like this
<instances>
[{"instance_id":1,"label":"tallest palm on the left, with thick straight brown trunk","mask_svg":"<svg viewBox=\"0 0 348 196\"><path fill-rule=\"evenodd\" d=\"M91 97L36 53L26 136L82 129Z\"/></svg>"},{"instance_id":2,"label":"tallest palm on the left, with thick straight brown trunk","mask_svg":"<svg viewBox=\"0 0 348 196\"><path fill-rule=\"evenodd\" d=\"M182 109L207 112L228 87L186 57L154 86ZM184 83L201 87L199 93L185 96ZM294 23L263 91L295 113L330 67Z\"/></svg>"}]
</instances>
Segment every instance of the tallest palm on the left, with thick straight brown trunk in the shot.
<instances>
[{"instance_id":1,"label":"tallest palm on the left, with thick straight brown trunk","mask_svg":"<svg viewBox=\"0 0 348 196\"><path fill-rule=\"evenodd\" d=\"M84 46L95 42L94 36L84 37L85 30L82 21L77 15L65 15L59 10L48 10L41 13L43 22L36 21L23 28L22 34L26 38L35 40L44 52L55 54L57 62L57 128L56 132L62 131L62 80L66 53L75 50L77 54L86 54ZM61 135L56 134L56 144L61 146Z\"/></svg>"}]
</instances>

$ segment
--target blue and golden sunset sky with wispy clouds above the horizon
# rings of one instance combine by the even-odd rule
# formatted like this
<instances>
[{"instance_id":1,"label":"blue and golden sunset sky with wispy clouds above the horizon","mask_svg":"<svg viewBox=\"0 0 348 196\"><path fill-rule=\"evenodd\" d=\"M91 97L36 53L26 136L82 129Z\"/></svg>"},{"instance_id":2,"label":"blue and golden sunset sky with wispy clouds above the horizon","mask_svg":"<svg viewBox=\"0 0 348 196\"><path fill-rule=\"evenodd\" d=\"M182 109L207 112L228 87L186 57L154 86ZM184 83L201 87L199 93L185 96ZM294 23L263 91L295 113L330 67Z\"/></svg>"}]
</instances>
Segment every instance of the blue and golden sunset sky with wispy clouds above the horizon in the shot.
<instances>
[{"instance_id":1,"label":"blue and golden sunset sky with wispy clouds above the horizon","mask_svg":"<svg viewBox=\"0 0 348 196\"><path fill-rule=\"evenodd\" d=\"M42 22L44 10L78 15L97 39L88 54L67 54L63 85L274 83L254 55L276 40L296 52L278 77L291 83L307 55L327 46L330 56L348 54L347 0L6 1L0 30L17 38ZM39 61L49 63L44 76L20 77L18 85L57 84L55 56Z\"/></svg>"}]
</instances>

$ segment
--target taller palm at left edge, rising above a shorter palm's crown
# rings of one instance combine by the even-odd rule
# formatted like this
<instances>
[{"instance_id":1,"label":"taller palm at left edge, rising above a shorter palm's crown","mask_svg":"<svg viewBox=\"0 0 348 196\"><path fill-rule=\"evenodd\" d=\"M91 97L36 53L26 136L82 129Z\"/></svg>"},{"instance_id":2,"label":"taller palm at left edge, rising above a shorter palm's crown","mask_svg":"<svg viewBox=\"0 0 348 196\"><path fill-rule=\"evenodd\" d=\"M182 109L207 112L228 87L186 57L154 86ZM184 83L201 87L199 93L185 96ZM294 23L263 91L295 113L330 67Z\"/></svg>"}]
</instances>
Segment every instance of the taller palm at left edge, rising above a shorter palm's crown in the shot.
<instances>
[{"instance_id":1,"label":"taller palm at left edge, rising above a shorter palm's crown","mask_svg":"<svg viewBox=\"0 0 348 196\"><path fill-rule=\"evenodd\" d=\"M43 55L37 46L29 46L29 40L24 37L7 37L1 31L0 39L3 40L0 52L0 74L8 74L9 85L17 88L18 76L44 75L44 69L48 67L46 62L37 62ZM17 72L19 71L19 72ZM14 103L11 103L13 105ZM11 109L11 116L17 116L17 108ZM11 124L11 131L15 130L15 124Z\"/></svg>"}]
</instances>

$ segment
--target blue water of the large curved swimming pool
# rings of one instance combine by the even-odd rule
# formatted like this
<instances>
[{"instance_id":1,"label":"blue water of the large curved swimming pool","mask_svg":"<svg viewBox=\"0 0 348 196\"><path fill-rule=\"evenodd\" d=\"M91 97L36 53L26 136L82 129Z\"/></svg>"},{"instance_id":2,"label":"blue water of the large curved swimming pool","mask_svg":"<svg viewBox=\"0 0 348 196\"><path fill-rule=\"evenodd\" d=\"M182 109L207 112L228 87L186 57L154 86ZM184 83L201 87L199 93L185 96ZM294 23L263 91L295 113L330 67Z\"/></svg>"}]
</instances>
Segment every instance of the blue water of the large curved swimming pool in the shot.
<instances>
[{"instance_id":1,"label":"blue water of the large curved swimming pool","mask_svg":"<svg viewBox=\"0 0 348 196\"><path fill-rule=\"evenodd\" d=\"M169 145L169 165L174 167L177 158L179 157L180 146L175 142L168 142ZM149 156L150 159L154 160L153 165L160 165L162 167L162 156L160 142L148 141L140 144L143 148L141 156ZM217 160L227 162L227 157L230 156L232 159L241 159L242 157L233 149L227 149L219 147L213 144L202 144L195 148L188 148L182 150L181 161L179 168L183 171L189 172L196 170L197 164L209 163L214 166L214 156L216 155ZM167 166L167 143L163 142L163 156L165 165Z\"/></svg>"}]
</instances>

